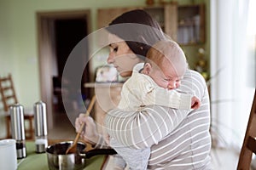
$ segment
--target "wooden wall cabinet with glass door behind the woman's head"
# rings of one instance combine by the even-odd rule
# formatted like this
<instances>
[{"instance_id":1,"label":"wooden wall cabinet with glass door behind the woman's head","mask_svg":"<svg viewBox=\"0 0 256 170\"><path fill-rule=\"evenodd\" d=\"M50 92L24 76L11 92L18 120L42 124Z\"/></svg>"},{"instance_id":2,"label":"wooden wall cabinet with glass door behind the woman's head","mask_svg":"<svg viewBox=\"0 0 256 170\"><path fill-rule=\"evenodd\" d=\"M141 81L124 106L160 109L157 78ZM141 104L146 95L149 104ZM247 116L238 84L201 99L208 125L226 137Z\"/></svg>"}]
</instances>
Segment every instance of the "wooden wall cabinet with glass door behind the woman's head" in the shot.
<instances>
[{"instance_id":1,"label":"wooden wall cabinet with glass door behind the woman's head","mask_svg":"<svg viewBox=\"0 0 256 170\"><path fill-rule=\"evenodd\" d=\"M177 5L166 3L158 6L134 8L99 8L97 26L102 28L119 14L141 8L160 23L163 31L181 45L205 42L205 8L204 4Z\"/></svg>"}]
</instances>

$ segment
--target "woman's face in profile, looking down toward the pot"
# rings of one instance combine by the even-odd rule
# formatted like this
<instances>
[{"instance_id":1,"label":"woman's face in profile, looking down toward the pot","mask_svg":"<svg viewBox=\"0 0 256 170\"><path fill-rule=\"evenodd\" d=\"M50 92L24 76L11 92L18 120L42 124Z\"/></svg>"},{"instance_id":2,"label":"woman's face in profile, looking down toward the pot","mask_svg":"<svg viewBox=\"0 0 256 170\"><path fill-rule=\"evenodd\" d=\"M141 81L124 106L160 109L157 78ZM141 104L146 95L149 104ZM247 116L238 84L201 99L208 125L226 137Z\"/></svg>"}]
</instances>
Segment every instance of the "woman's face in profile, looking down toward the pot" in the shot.
<instances>
[{"instance_id":1,"label":"woman's face in profile, looking down toward the pot","mask_svg":"<svg viewBox=\"0 0 256 170\"><path fill-rule=\"evenodd\" d=\"M130 77L134 65L142 62L141 59L131 51L123 39L110 34L108 40L110 42L108 64L113 64L121 77Z\"/></svg>"}]
</instances>

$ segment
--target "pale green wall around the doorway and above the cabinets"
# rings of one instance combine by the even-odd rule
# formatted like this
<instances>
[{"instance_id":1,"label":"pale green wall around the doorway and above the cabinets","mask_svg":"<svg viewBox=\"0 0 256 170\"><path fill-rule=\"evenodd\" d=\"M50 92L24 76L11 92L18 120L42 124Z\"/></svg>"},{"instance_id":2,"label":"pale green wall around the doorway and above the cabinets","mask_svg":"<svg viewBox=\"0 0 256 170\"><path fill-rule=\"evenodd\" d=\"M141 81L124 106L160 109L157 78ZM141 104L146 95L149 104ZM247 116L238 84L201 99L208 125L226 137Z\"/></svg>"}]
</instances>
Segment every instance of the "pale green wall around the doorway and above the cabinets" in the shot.
<instances>
[{"instance_id":1,"label":"pale green wall around the doorway and above the cabinets","mask_svg":"<svg viewBox=\"0 0 256 170\"><path fill-rule=\"evenodd\" d=\"M37 12L90 9L95 31L97 8L143 5L145 0L0 0L0 75L13 75L20 104L31 107L40 99Z\"/></svg>"}]
</instances>

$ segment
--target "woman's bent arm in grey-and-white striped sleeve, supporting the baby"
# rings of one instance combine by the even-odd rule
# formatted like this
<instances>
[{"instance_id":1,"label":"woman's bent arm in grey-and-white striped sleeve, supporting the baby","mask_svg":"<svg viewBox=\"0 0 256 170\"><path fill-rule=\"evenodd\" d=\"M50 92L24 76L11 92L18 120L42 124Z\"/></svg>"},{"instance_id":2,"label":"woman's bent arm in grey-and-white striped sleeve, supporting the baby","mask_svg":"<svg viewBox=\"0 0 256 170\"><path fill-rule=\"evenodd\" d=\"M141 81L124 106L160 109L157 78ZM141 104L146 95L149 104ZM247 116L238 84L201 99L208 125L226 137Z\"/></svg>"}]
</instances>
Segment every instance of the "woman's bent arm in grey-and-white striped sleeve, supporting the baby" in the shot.
<instances>
[{"instance_id":1,"label":"woman's bent arm in grey-and-white striped sleeve, supporting the baby","mask_svg":"<svg viewBox=\"0 0 256 170\"><path fill-rule=\"evenodd\" d=\"M205 91L204 79L195 71L187 71L180 90L195 94L200 99ZM108 133L119 143L134 148L150 147L163 139L189 115L188 110L175 110L149 105L143 111L109 111L105 125Z\"/></svg>"}]
</instances>

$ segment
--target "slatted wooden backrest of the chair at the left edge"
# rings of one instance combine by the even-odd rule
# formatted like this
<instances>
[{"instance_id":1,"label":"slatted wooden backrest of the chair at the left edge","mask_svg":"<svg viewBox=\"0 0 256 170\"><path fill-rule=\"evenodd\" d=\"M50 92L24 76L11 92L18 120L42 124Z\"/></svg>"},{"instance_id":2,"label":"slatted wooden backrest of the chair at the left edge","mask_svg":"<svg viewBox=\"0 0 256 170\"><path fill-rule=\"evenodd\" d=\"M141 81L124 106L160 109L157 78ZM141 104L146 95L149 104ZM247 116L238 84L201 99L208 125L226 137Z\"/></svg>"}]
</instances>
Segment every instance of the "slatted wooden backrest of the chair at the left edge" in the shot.
<instances>
[{"instance_id":1,"label":"slatted wooden backrest of the chair at the left edge","mask_svg":"<svg viewBox=\"0 0 256 170\"><path fill-rule=\"evenodd\" d=\"M4 111L9 111L9 105L18 103L14 82L10 74L7 77L0 77L0 93Z\"/></svg>"}]
</instances>

